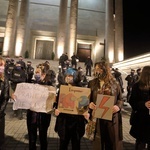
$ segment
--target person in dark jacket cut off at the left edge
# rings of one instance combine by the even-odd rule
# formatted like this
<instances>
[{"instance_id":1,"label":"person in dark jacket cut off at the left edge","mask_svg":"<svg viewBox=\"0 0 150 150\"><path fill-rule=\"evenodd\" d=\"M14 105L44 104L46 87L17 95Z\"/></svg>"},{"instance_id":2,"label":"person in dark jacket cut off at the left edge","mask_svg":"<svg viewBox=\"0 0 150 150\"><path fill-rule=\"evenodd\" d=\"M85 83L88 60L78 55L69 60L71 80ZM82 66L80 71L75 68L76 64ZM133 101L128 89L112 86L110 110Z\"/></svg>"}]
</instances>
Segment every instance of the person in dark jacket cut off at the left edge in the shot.
<instances>
[{"instance_id":1,"label":"person in dark jacket cut off at the left edge","mask_svg":"<svg viewBox=\"0 0 150 150\"><path fill-rule=\"evenodd\" d=\"M5 61L0 57L0 150L5 142L5 109L9 100L9 81L4 76Z\"/></svg>"}]
</instances>

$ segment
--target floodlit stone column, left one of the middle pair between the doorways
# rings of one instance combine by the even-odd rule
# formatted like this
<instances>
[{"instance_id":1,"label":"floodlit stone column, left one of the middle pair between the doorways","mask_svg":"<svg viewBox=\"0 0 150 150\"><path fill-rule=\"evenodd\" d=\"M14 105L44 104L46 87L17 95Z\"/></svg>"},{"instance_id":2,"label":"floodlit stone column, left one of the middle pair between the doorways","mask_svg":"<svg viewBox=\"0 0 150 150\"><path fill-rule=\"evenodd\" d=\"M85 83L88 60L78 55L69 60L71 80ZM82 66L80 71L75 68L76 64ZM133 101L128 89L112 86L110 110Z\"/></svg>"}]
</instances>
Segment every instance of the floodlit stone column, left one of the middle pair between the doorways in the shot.
<instances>
[{"instance_id":1,"label":"floodlit stone column, left one of the middle pair between the doorways","mask_svg":"<svg viewBox=\"0 0 150 150\"><path fill-rule=\"evenodd\" d=\"M59 58L65 51L67 4L68 0L60 1L59 24L57 31L57 53L56 53L57 58Z\"/></svg>"}]
</instances>

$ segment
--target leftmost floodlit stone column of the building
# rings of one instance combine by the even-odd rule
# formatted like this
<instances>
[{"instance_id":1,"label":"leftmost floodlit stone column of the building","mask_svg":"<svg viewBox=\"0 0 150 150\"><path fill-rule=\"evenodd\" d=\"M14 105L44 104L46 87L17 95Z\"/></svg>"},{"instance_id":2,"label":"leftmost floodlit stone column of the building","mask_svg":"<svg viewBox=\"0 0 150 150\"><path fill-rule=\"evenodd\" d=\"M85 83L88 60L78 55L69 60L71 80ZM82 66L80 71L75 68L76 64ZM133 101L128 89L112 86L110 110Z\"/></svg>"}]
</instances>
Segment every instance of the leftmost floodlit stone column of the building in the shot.
<instances>
[{"instance_id":1,"label":"leftmost floodlit stone column of the building","mask_svg":"<svg viewBox=\"0 0 150 150\"><path fill-rule=\"evenodd\" d=\"M15 48L15 31L18 12L18 0L9 0L4 35L3 56L12 56Z\"/></svg>"}]
</instances>

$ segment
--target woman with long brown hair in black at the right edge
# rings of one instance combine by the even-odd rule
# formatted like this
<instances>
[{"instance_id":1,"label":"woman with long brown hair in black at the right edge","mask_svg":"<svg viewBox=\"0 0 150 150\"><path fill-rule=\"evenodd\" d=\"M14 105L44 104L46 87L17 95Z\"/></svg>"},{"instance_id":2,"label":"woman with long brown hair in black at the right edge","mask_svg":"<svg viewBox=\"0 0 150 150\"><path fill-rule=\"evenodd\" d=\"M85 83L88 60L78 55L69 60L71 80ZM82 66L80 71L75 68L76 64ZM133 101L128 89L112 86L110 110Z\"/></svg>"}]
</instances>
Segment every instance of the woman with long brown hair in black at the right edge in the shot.
<instances>
[{"instance_id":1,"label":"woman with long brown hair in black at the right edge","mask_svg":"<svg viewBox=\"0 0 150 150\"><path fill-rule=\"evenodd\" d=\"M135 150L150 150L150 66L142 69L129 99L132 114L130 134L136 139Z\"/></svg>"}]
</instances>

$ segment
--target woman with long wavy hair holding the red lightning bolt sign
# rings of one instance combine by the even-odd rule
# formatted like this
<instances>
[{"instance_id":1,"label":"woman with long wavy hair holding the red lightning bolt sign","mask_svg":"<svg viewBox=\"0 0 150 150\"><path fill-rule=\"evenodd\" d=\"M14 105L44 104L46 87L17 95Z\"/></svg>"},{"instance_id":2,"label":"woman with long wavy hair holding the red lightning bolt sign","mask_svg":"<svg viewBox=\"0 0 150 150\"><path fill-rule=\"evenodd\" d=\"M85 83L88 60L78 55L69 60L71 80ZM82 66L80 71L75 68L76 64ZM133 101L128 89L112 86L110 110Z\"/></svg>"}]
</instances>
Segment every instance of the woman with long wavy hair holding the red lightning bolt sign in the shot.
<instances>
[{"instance_id":1,"label":"woman with long wavy hair holding the red lightning bolt sign","mask_svg":"<svg viewBox=\"0 0 150 150\"><path fill-rule=\"evenodd\" d=\"M88 84L88 88L91 89L91 103L89 104L90 111L93 114L91 119L95 117L94 112L99 109L99 116L98 114L96 115L96 132L93 141L93 149L122 150L123 135L121 108L123 100L120 86L111 75L110 68L106 61L95 63L94 76L95 78L90 80ZM99 103L96 102L99 100L98 94L102 96L105 95L105 97L101 98ZM114 104L111 108L108 105L111 100L110 96L114 97ZM101 113L107 113L109 110L111 111L111 120L102 118Z\"/></svg>"}]
</instances>

